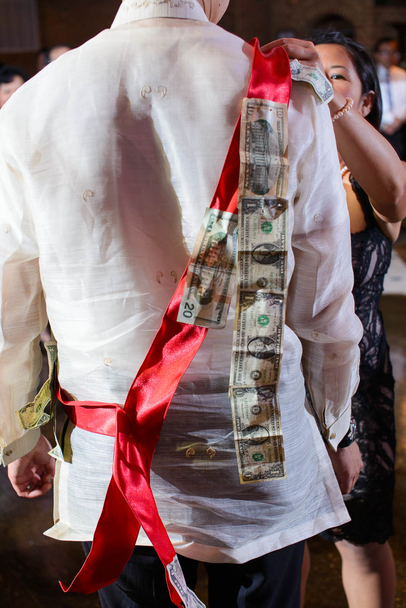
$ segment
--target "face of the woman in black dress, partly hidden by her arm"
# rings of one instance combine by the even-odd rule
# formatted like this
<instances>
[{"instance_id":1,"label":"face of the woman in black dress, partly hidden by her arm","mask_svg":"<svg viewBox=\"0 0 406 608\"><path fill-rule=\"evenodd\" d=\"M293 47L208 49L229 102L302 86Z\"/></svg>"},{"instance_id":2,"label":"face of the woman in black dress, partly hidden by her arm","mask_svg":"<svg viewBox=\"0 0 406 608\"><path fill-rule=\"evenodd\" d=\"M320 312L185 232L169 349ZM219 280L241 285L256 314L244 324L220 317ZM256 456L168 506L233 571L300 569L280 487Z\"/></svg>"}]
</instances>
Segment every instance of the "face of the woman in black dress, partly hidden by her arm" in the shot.
<instances>
[{"instance_id":1,"label":"face of the woman in black dress, partly hidden by her arm","mask_svg":"<svg viewBox=\"0 0 406 608\"><path fill-rule=\"evenodd\" d=\"M362 95L362 85L351 57L340 44L317 44L324 72L334 86L334 89L354 100L356 108L362 116L369 114L370 107L365 107L365 95ZM369 104L368 104L369 106Z\"/></svg>"}]
</instances>

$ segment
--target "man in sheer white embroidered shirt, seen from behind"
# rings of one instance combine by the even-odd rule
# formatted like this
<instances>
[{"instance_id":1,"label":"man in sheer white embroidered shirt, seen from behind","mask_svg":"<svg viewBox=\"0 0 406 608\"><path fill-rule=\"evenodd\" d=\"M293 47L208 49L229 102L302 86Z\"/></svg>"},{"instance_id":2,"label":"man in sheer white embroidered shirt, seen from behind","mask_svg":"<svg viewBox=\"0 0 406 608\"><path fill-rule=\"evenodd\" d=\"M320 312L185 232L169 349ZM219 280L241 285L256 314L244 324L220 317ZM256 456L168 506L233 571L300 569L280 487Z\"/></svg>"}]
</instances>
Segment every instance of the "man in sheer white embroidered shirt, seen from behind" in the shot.
<instances>
[{"instance_id":1,"label":"man in sheer white embroidered shirt, seen from behind","mask_svg":"<svg viewBox=\"0 0 406 608\"><path fill-rule=\"evenodd\" d=\"M35 395L46 319L61 387L124 403L191 255L251 74L252 47L215 26L227 4L124 0L110 30L41 71L0 113L0 439L20 496L47 491L52 475L39 430L22 431L15 416ZM189 586L197 560L206 563L211 608L297 606L304 539L348 520L320 430L343 492L360 468L355 444L335 452L349 429L362 326L331 117L309 85L293 83L288 122L287 478L239 482L228 398L235 304L181 379L152 464L159 515ZM114 438L69 423L63 443L46 534L89 543ZM103 606L170 605L148 545L141 531Z\"/></svg>"}]
</instances>

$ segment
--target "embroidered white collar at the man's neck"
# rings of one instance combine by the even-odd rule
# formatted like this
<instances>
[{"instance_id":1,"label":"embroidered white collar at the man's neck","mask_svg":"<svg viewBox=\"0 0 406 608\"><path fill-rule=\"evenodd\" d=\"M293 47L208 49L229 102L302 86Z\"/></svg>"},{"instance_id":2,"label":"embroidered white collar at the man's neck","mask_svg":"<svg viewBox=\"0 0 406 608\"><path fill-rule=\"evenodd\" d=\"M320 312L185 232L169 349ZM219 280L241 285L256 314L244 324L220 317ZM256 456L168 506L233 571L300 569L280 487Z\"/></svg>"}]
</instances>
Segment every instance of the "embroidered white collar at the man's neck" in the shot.
<instances>
[{"instance_id":1,"label":"embroidered white collar at the man's neck","mask_svg":"<svg viewBox=\"0 0 406 608\"><path fill-rule=\"evenodd\" d=\"M203 7L197 0L124 0L111 29L124 26L131 21L155 17L208 21Z\"/></svg>"}]
</instances>

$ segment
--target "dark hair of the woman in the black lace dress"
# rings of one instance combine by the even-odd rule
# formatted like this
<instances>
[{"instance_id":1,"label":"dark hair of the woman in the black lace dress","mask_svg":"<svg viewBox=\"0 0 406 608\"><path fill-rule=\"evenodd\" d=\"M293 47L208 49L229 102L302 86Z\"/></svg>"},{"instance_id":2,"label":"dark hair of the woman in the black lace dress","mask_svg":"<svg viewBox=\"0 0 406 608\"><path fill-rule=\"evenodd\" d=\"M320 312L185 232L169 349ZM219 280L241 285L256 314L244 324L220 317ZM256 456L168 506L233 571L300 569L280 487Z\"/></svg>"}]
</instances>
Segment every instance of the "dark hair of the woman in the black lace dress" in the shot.
<instances>
[{"instance_id":1,"label":"dark hair of the woman in the black lace dress","mask_svg":"<svg viewBox=\"0 0 406 608\"><path fill-rule=\"evenodd\" d=\"M382 97L379 80L375 64L362 44L355 42L352 38L347 38L341 32L320 32L312 36L311 40L314 44L338 44L348 52L360 79L362 94L365 95L369 91L375 93L371 111L365 118L376 129L379 129L382 119Z\"/></svg>"}]
</instances>

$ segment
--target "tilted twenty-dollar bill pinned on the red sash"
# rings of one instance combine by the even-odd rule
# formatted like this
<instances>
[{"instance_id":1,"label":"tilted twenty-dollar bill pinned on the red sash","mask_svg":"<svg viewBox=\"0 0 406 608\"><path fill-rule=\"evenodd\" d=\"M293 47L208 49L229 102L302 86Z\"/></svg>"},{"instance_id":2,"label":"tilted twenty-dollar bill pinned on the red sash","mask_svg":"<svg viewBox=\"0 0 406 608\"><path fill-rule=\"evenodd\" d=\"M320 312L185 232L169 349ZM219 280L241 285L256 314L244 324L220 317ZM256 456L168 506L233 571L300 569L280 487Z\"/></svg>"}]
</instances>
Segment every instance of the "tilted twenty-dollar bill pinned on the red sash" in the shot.
<instances>
[{"instance_id":1,"label":"tilted twenty-dollar bill pinned on the red sash","mask_svg":"<svg viewBox=\"0 0 406 608\"><path fill-rule=\"evenodd\" d=\"M234 289L237 216L207 209L179 307L178 321L223 328Z\"/></svg>"}]
</instances>

